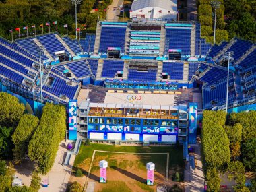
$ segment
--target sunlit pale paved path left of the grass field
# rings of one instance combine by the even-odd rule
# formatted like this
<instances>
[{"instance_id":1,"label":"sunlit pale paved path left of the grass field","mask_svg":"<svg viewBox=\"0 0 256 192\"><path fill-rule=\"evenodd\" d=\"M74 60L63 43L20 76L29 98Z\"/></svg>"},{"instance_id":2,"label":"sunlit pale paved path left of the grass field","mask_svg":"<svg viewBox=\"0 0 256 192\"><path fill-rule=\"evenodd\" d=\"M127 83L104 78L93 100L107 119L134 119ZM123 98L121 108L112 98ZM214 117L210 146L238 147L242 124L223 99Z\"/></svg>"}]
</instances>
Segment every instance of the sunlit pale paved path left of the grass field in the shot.
<instances>
[{"instance_id":1,"label":"sunlit pale paved path left of the grass field","mask_svg":"<svg viewBox=\"0 0 256 192\"><path fill-rule=\"evenodd\" d=\"M62 162L65 158L64 154L67 152L67 148L65 147L65 141L62 141L59 150L57 152L55 162L53 164L53 167L51 168L50 174L49 174L49 186L48 187L41 187L39 192L44 191L61 191L65 192L67 188L67 183L69 182L70 173L72 170L72 167L63 166ZM74 160L74 158L71 158ZM72 162L71 162L72 164ZM48 174L41 176L41 184L43 183L44 179L48 179Z\"/></svg>"}]
</instances>

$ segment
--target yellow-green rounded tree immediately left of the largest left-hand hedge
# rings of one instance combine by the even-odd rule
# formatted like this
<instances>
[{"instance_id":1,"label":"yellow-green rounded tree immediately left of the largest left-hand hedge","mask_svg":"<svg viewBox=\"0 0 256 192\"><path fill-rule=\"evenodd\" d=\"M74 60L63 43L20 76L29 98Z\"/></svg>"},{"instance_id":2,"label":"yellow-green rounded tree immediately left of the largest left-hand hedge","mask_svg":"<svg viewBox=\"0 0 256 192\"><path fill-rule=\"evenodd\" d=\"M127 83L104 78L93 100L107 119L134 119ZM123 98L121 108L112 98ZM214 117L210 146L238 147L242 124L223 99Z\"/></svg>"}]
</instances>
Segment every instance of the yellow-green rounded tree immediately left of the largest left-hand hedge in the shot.
<instances>
[{"instance_id":1,"label":"yellow-green rounded tree immediately left of the largest left-hand hedge","mask_svg":"<svg viewBox=\"0 0 256 192\"><path fill-rule=\"evenodd\" d=\"M20 162L28 151L28 143L38 126L39 119L30 114L25 114L20 119L18 127L12 135L12 141L15 145L13 155L15 162Z\"/></svg>"}]
</instances>

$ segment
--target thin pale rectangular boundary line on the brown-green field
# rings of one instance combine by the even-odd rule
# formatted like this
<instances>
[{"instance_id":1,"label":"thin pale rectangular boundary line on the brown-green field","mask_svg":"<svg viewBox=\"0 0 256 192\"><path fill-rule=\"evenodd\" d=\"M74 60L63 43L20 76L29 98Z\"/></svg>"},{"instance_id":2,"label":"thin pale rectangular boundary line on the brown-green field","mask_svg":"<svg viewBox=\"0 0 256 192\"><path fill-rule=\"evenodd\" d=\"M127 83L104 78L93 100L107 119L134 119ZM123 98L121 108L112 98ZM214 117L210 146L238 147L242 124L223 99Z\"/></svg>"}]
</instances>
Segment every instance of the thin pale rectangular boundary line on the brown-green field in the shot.
<instances>
[{"instance_id":1,"label":"thin pale rectangular boundary line on the brown-green field","mask_svg":"<svg viewBox=\"0 0 256 192\"><path fill-rule=\"evenodd\" d=\"M167 155L167 162L166 162L166 181L168 183L168 173L169 173L169 156L170 156L170 153L135 153L135 152L110 152L110 151L102 151L102 150L94 150L94 153L92 154L92 160L91 160L91 163L90 163L90 168L88 170L88 173L87 173L87 177L86 177L86 181L84 183L84 189L88 183L88 178L90 177L90 172L91 172L91 169L92 169L92 163L94 162L94 156L95 156L95 153L96 152L104 152L104 153L113 153L113 154L166 154ZM84 191L83 189L83 191Z\"/></svg>"}]
</instances>

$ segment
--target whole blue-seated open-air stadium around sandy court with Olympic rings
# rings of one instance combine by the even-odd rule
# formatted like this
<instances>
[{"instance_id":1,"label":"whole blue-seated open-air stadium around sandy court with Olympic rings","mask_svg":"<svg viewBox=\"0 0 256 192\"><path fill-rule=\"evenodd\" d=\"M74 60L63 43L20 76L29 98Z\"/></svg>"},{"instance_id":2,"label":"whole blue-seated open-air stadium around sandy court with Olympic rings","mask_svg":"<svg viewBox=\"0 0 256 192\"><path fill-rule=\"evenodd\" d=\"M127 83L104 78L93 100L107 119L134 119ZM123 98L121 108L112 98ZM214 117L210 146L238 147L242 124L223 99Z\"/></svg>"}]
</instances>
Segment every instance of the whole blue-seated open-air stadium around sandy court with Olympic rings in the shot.
<instances>
[{"instance_id":1,"label":"whole blue-seated open-air stadium around sandy court with Olympic rings","mask_svg":"<svg viewBox=\"0 0 256 192\"><path fill-rule=\"evenodd\" d=\"M80 42L57 32L13 43L1 38L1 91L18 96L30 113L45 102L76 108L79 98L69 139L193 143L192 119L199 126L203 110L226 109L227 79L228 111L255 108L255 44L233 38L211 46L200 29L194 22L105 21ZM158 102L150 101L155 94Z\"/></svg>"}]
</instances>

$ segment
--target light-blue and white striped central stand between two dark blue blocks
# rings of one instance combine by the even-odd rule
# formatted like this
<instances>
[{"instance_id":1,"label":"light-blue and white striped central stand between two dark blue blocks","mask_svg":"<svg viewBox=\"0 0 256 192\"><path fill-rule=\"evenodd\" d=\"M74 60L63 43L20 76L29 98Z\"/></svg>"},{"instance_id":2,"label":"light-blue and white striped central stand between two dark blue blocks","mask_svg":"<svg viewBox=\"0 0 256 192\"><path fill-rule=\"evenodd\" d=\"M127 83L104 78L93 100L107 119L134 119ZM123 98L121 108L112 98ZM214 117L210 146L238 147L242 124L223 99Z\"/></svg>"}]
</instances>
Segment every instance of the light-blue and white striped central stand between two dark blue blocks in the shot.
<instances>
[{"instance_id":1,"label":"light-blue and white striped central stand between two dark blue blocks","mask_svg":"<svg viewBox=\"0 0 256 192\"><path fill-rule=\"evenodd\" d=\"M159 55L160 31L130 32L129 55Z\"/></svg>"}]
</instances>

